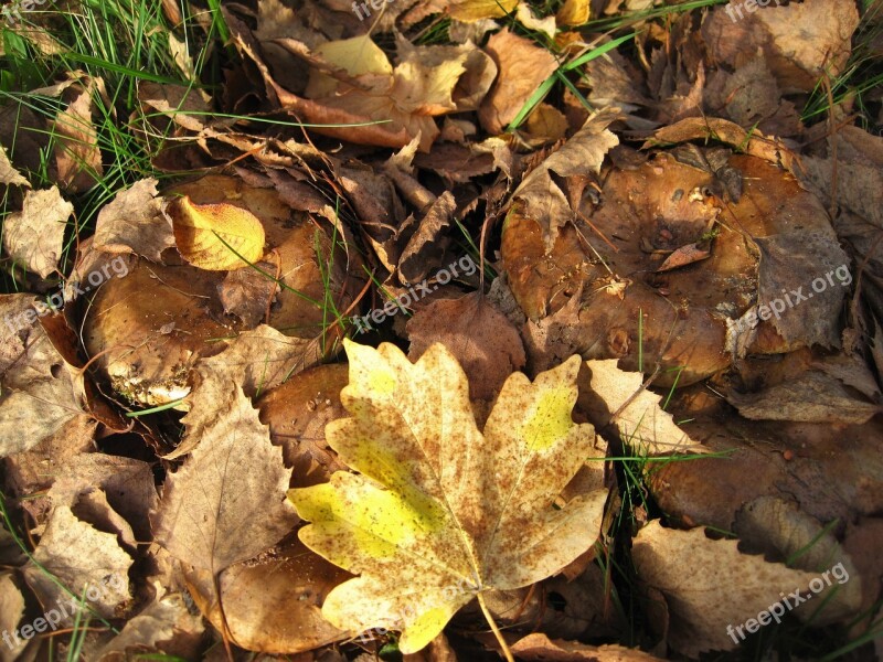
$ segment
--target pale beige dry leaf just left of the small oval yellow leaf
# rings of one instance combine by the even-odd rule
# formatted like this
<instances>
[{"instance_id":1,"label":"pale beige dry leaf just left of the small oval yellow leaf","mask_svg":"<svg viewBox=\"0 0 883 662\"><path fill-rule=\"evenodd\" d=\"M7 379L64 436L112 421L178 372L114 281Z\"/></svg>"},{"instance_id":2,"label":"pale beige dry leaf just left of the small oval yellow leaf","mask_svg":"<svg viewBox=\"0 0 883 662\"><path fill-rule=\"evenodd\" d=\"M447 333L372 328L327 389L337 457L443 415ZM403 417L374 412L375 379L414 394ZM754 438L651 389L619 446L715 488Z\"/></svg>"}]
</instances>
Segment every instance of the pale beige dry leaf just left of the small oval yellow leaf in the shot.
<instances>
[{"instance_id":1,"label":"pale beige dry leaf just left of the small oval yellow leaf","mask_svg":"<svg viewBox=\"0 0 883 662\"><path fill-rule=\"evenodd\" d=\"M98 212L95 248L104 253L135 253L162 261L162 252L174 246L172 225L157 197L157 180L146 179L119 191Z\"/></svg>"}]
</instances>

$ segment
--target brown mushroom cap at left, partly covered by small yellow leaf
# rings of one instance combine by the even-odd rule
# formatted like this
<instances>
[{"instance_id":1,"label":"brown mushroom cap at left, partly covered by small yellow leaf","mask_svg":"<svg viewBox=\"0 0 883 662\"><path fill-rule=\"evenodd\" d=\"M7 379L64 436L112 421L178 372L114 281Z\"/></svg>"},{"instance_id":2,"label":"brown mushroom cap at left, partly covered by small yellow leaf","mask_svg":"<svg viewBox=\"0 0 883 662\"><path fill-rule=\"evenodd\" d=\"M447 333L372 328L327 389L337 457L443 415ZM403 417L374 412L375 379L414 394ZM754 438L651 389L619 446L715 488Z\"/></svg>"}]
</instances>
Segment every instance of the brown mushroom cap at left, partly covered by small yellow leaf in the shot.
<instances>
[{"instance_id":1,"label":"brown mushroom cap at left, partly covered by small yellow leaf","mask_svg":"<svg viewBox=\"0 0 883 662\"><path fill-rule=\"evenodd\" d=\"M251 267L206 271L170 257L167 265L140 259L124 278L105 282L86 312L84 342L118 393L146 405L183 397L196 360L222 351L223 340L256 325L224 311L220 293L228 274L263 278L268 291L278 278L284 286L269 306L269 324L299 338L330 333L325 346L336 345L342 330L333 324L330 301L342 313L354 288L348 286L342 250L338 242L332 246L329 232L288 207L275 190L233 177L209 175L166 193L172 195L189 195L198 204L235 204L257 216L267 237L260 267L269 277ZM259 308L258 323L265 317L265 306Z\"/></svg>"}]
</instances>

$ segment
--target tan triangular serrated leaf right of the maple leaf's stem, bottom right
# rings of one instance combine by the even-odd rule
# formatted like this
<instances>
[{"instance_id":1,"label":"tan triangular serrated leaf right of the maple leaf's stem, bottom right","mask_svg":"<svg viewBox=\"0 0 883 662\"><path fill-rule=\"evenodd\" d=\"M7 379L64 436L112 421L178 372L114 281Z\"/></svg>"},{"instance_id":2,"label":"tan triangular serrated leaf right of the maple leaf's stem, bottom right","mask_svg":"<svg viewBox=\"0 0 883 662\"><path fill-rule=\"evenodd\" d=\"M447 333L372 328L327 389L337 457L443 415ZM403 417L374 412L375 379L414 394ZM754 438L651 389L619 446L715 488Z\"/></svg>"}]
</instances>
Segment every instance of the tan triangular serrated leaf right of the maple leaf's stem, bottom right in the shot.
<instances>
[{"instance_id":1,"label":"tan triangular serrated leaf right of the maple leaf's stem, bottom right","mask_svg":"<svg viewBox=\"0 0 883 662\"><path fill-rule=\"evenodd\" d=\"M691 658L733 650L738 641L735 628L748 619L757 622L762 611L783 600L783 594L799 590L801 596L825 600L837 586L812 594L809 585L819 578L817 573L769 563L743 554L737 546L738 541L708 538L703 528L663 528L658 520L638 533L632 544L635 568L646 586L666 597L671 613L669 644L674 650ZM687 573L688 567L692 572ZM785 605L777 611L786 613ZM767 620L773 622L769 615Z\"/></svg>"}]
</instances>

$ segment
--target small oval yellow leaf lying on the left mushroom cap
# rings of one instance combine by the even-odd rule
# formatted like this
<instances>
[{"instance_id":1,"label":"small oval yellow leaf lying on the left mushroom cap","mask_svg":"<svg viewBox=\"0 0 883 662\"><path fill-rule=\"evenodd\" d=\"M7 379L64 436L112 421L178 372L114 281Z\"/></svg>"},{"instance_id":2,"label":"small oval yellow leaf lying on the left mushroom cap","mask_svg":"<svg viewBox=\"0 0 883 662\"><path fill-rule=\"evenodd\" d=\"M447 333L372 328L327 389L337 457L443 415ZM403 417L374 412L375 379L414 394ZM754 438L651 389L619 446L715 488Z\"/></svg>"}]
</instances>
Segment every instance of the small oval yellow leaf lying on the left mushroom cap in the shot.
<instances>
[{"instance_id":1,"label":"small oval yellow leaf lying on the left mushroom cap","mask_svg":"<svg viewBox=\"0 0 883 662\"><path fill-rule=\"evenodd\" d=\"M264 255L264 226L231 203L195 204L189 195L169 203L174 242L193 266L211 271L241 269Z\"/></svg>"}]
</instances>

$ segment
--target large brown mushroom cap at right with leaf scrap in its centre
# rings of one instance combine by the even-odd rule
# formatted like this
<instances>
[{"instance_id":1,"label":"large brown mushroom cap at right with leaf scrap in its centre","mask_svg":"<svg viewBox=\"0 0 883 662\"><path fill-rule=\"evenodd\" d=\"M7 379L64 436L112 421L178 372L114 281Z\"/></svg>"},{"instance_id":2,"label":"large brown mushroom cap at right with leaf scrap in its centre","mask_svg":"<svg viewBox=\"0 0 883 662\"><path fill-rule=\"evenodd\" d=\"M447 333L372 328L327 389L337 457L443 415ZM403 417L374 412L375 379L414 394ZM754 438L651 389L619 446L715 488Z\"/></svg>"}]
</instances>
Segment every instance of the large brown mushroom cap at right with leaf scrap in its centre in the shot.
<instances>
[{"instance_id":1,"label":"large brown mushroom cap at right with leaf scrap in its centre","mask_svg":"<svg viewBox=\"0 0 883 662\"><path fill-rule=\"evenodd\" d=\"M561 229L549 254L539 224L513 206L502 261L531 320L526 344L534 370L573 352L621 359L625 370L637 370L642 348L643 367L658 363L658 383L670 385L675 369L682 369L679 383L690 384L731 364L727 319L757 302L760 252L754 239L810 232L833 237L833 231L818 200L790 174L752 156L731 157L728 164L743 178L737 203L709 195L714 175L667 152L636 168L610 168L599 204L584 200L579 210L597 231L577 218ZM706 259L658 270L672 252L694 243L708 246ZM773 324L760 322L757 331L752 352L800 346Z\"/></svg>"}]
</instances>

